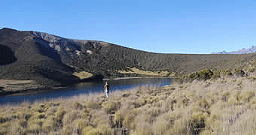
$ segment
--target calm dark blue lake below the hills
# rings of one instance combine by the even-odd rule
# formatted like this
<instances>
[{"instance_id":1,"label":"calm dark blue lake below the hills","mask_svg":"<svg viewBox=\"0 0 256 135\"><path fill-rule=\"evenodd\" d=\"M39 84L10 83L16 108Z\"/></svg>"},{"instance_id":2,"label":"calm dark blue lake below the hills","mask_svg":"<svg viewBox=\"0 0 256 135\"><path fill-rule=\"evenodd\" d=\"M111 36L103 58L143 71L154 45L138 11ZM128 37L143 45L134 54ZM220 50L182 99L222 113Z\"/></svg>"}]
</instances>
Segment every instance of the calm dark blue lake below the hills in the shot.
<instances>
[{"instance_id":1,"label":"calm dark blue lake below the hills","mask_svg":"<svg viewBox=\"0 0 256 135\"><path fill-rule=\"evenodd\" d=\"M108 80L111 92L117 90L132 89L136 86L157 85L166 86L172 83L170 78L133 78L121 80ZM105 81L78 83L65 89L47 90L41 92L29 92L26 94L16 94L0 97L0 104L17 104L23 101L42 101L52 98L71 98L76 95L84 95L93 92L104 92Z\"/></svg>"}]
</instances>

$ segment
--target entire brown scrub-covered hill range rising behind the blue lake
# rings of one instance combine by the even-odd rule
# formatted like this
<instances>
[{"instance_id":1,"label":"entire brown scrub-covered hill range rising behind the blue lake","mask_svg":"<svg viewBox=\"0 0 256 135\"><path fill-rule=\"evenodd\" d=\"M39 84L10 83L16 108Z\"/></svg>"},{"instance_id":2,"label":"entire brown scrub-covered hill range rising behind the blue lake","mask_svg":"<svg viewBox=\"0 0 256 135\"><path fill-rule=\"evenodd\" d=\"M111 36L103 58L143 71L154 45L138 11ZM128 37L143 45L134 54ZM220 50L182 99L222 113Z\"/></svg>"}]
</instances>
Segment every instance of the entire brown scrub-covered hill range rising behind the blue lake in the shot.
<instances>
[{"instance_id":1,"label":"entire brown scrub-covered hill range rising behind the blue lake","mask_svg":"<svg viewBox=\"0 0 256 135\"><path fill-rule=\"evenodd\" d=\"M0 51L0 79L35 80L47 87L103 77L155 76L162 72L168 76L203 68L236 68L256 58L255 54L161 54L11 28L0 29Z\"/></svg>"}]
</instances>

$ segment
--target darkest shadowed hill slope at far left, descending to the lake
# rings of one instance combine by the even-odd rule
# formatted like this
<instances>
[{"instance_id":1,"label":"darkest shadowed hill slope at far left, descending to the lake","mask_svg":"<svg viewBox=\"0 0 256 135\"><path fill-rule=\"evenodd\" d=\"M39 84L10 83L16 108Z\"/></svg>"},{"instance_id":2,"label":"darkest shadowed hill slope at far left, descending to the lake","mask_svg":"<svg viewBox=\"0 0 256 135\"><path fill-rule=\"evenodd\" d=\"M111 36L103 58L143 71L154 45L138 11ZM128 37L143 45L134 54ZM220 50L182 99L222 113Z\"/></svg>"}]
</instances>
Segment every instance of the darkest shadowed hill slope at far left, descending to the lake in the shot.
<instances>
[{"instance_id":1,"label":"darkest shadowed hill slope at far left, descending to the lake","mask_svg":"<svg viewBox=\"0 0 256 135\"><path fill-rule=\"evenodd\" d=\"M16 31L10 28L0 30L1 46L8 48L8 63L0 66L1 79L36 80L47 87L66 86L78 82L72 74L73 68L56 61L55 55L47 55L50 51L38 45L30 31ZM5 54L7 49L5 49ZM3 55L3 53L2 53ZM16 59L14 59L16 58ZM5 58L6 59L6 58ZM2 57L2 61L5 60Z\"/></svg>"}]
</instances>

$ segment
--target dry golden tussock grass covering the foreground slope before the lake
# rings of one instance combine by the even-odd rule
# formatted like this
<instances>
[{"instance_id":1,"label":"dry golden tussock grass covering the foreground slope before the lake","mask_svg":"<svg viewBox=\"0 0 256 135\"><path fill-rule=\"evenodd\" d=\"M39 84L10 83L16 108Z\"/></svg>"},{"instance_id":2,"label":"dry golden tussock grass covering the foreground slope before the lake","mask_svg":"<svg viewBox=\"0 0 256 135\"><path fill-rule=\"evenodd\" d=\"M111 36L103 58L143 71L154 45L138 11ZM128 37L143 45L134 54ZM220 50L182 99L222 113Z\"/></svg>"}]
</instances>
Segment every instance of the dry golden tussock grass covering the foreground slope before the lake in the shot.
<instances>
[{"instance_id":1,"label":"dry golden tussock grass covering the foreground slope before the lake","mask_svg":"<svg viewBox=\"0 0 256 135\"><path fill-rule=\"evenodd\" d=\"M1 105L0 134L255 134L251 78Z\"/></svg>"}]
</instances>

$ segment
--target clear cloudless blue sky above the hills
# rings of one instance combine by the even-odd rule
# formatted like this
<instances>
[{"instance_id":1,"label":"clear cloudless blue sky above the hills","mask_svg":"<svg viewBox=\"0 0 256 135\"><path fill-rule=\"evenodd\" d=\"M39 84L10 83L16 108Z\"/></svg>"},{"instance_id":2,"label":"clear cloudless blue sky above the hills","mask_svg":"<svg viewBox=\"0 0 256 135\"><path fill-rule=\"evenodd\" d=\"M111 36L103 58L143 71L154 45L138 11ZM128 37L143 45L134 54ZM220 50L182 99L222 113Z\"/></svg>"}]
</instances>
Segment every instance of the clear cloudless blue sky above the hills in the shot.
<instances>
[{"instance_id":1,"label":"clear cloudless blue sky above the hills","mask_svg":"<svg viewBox=\"0 0 256 135\"><path fill-rule=\"evenodd\" d=\"M164 53L256 45L255 0L1 0L0 28Z\"/></svg>"}]
</instances>

